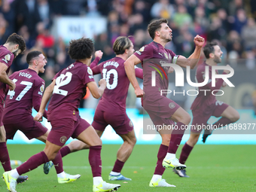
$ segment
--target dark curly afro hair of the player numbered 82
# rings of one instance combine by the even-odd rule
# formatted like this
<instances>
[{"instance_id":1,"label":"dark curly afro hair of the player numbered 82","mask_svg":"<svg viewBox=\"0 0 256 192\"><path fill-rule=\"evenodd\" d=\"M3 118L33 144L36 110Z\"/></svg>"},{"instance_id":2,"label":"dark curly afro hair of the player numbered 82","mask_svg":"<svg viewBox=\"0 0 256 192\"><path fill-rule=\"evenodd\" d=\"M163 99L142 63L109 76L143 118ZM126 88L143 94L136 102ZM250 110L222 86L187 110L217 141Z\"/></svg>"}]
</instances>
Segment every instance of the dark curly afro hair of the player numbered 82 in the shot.
<instances>
[{"instance_id":1,"label":"dark curly afro hair of the player numbered 82","mask_svg":"<svg viewBox=\"0 0 256 192\"><path fill-rule=\"evenodd\" d=\"M90 58L93 51L93 41L90 38L78 38L69 42L69 56L71 59Z\"/></svg>"}]
</instances>

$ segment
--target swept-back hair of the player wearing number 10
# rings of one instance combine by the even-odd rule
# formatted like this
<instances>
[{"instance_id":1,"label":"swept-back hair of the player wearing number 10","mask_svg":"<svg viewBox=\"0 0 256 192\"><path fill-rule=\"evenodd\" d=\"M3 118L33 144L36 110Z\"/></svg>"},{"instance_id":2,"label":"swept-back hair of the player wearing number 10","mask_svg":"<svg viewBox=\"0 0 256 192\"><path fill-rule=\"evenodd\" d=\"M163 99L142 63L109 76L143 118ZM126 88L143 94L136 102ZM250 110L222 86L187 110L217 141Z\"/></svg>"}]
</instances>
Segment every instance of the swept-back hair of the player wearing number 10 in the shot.
<instances>
[{"instance_id":1,"label":"swept-back hair of the player wearing number 10","mask_svg":"<svg viewBox=\"0 0 256 192\"><path fill-rule=\"evenodd\" d=\"M130 40L130 38L120 36L114 41L113 50L114 50L114 53L119 55L119 54L123 54L126 49L130 49L131 46L132 46L132 41Z\"/></svg>"}]
</instances>

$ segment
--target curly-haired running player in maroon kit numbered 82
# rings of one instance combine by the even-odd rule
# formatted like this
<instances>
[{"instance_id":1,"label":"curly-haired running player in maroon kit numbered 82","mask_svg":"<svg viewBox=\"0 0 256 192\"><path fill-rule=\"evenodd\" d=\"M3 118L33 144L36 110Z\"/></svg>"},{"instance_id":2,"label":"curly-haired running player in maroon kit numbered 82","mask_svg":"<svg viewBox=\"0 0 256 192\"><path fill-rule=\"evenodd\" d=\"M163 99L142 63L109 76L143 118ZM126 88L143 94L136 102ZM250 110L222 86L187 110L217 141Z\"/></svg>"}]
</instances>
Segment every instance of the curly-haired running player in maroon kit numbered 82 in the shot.
<instances>
[{"instance_id":1,"label":"curly-haired running player in maroon kit numbered 82","mask_svg":"<svg viewBox=\"0 0 256 192\"><path fill-rule=\"evenodd\" d=\"M44 92L40 109L34 118L38 121L42 120L47 102L51 97L47 120L50 121L52 129L47 137L46 146L44 151L33 155L17 169L4 172L5 183L11 192L16 192L16 179L19 175L61 155L59 149L71 136L90 145L89 162L93 172L93 192L117 190L120 187L120 184L108 184L102 180L100 157L102 141L93 126L82 119L78 111L78 106L87 87L96 99L102 96L106 87L105 80L100 80L98 87L93 79L93 72L89 67L93 51L93 41L90 38L70 41L69 56L76 61L54 76L53 82Z\"/></svg>"}]
</instances>

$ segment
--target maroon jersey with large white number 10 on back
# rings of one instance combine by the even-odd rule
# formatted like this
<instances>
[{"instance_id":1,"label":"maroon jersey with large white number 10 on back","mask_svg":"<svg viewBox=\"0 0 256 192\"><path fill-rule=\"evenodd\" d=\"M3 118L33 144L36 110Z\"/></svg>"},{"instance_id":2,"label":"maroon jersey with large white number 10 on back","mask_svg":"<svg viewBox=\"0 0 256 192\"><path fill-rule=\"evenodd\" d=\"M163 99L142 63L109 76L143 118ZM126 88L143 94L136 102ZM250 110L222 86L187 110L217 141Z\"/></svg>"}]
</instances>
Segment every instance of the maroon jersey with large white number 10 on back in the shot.
<instances>
[{"instance_id":1,"label":"maroon jersey with large white number 10 on back","mask_svg":"<svg viewBox=\"0 0 256 192\"><path fill-rule=\"evenodd\" d=\"M112 112L126 111L126 97L130 81L123 66L124 62L125 60L122 58L114 57L92 69L93 75L101 73L102 78L107 82L107 87L104 90L102 98L99 100L97 110ZM142 71L139 68L135 70Z\"/></svg>"}]
</instances>

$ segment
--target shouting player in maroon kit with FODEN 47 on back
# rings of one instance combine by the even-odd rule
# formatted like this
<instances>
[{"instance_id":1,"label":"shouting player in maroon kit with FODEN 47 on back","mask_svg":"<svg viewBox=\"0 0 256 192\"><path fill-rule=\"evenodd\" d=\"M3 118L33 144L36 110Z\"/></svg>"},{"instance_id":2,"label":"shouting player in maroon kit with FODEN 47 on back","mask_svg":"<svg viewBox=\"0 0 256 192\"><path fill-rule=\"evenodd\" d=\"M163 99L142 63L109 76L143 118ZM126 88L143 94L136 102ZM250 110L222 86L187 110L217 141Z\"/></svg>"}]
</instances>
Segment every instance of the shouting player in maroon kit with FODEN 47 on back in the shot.
<instances>
[{"instance_id":1,"label":"shouting player in maroon kit with FODEN 47 on back","mask_svg":"<svg viewBox=\"0 0 256 192\"><path fill-rule=\"evenodd\" d=\"M32 117L32 107L39 111L41 98L44 93L44 80L38 73L44 73L47 63L43 53L33 50L26 56L28 69L14 72L10 79L16 84L15 90L9 90L5 99L3 123L6 139L14 139L17 130L22 131L28 139L38 139L46 142L50 131ZM44 111L47 118L47 111ZM59 183L69 183L80 178L81 175L69 175L63 171L61 156L53 160Z\"/></svg>"}]
</instances>

